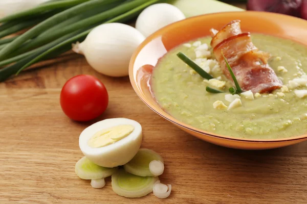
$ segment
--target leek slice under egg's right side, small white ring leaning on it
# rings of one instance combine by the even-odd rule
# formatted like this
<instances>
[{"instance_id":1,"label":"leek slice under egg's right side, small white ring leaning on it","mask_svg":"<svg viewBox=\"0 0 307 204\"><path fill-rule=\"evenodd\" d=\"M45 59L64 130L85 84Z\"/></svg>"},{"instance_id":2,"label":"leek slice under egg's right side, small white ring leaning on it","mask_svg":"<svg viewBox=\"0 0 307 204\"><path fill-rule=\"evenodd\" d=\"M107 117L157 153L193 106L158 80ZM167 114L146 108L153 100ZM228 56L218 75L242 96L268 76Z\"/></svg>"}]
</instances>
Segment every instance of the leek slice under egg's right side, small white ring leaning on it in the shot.
<instances>
[{"instance_id":1,"label":"leek slice under egg's right side, small white ring leaning on it","mask_svg":"<svg viewBox=\"0 0 307 204\"><path fill-rule=\"evenodd\" d=\"M151 168L149 169L150 162L154 160L160 161L160 165L156 162L153 162L151 163ZM129 173L139 176L158 176L163 173L164 161L156 151L142 148L139 149L138 153L132 160L124 165L124 169Z\"/></svg>"}]
</instances>

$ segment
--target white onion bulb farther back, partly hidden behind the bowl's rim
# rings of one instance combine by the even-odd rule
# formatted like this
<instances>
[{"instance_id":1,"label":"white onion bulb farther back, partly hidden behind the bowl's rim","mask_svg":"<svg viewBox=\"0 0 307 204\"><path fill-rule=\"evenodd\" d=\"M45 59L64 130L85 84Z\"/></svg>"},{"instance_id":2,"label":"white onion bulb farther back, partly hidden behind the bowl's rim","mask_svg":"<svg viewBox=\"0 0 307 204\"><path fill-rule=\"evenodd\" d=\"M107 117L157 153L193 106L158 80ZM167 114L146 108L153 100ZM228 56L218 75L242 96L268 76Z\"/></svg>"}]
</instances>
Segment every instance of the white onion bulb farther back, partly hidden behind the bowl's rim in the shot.
<instances>
[{"instance_id":1,"label":"white onion bulb farther back, partly hidden behind the bowl's rim","mask_svg":"<svg viewBox=\"0 0 307 204\"><path fill-rule=\"evenodd\" d=\"M173 22L185 19L184 14L175 6L161 3L144 9L136 21L136 29L145 37Z\"/></svg>"}]
</instances>

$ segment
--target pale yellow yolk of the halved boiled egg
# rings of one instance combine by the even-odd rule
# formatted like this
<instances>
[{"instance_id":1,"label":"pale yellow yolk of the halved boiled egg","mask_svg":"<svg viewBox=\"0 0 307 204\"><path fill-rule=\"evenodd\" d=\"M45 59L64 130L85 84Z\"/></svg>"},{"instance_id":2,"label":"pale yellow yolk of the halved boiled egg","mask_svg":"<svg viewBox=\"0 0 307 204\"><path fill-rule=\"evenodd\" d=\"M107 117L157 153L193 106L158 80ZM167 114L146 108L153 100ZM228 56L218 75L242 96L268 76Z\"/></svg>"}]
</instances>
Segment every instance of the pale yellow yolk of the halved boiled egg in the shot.
<instances>
[{"instance_id":1,"label":"pale yellow yolk of the halved boiled egg","mask_svg":"<svg viewBox=\"0 0 307 204\"><path fill-rule=\"evenodd\" d=\"M99 148L127 137L134 131L134 126L129 124L118 125L104 129L95 133L93 137L87 142L90 147Z\"/></svg>"}]
</instances>

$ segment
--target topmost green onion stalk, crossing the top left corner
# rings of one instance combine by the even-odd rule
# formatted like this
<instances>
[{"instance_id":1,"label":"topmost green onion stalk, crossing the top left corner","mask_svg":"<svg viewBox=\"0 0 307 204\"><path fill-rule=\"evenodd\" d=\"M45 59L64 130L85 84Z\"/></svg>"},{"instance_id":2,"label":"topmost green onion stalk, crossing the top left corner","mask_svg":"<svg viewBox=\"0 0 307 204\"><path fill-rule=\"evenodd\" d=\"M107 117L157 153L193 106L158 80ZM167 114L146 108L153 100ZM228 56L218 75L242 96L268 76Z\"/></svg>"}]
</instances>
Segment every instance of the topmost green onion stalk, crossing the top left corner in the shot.
<instances>
[{"instance_id":1,"label":"topmost green onion stalk, crossing the top left corner","mask_svg":"<svg viewBox=\"0 0 307 204\"><path fill-rule=\"evenodd\" d=\"M19 12L16 14L12 14L9 16L6 16L4 18L0 19L0 22L6 22L9 20L15 20L15 19L20 19L23 17L29 17L29 16L34 16L36 14L40 14L41 12L52 10L52 9L59 9L59 8L65 8L65 7L71 7L75 6L84 2L88 2L90 0L62 0L58 2L47 2L45 4L38 5L35 8Z\"/></svg>"}]
</instances>

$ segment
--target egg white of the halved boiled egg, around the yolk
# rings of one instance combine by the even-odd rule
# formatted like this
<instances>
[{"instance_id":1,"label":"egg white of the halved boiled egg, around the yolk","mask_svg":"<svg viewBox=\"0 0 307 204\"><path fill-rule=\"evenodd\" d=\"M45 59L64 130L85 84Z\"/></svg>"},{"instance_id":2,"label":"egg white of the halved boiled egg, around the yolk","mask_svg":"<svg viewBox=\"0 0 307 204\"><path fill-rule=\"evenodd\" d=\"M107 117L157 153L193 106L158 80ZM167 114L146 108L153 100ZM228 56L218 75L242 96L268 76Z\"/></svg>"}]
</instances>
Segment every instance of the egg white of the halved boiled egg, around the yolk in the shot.
<instances>
[{"instance_id":1,"label":"egg white of the halved boiled egg, around the yolk","mask_svg":"<svg viewBox=\"0 0 307 204\"><path fill-rule=\"evenodd\" d=\"M124 124L134 126L134 131L127 137L104 147L93 148L87 144L96 132ZM112 118L96 122L86 127L80 134L79 147L83 155L93 163L112 168L129 162L137 154L142 143L142 138L142 126L140 123L127 118Z\"/></svg>"}]
</instances>

